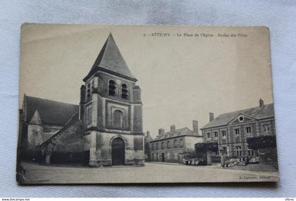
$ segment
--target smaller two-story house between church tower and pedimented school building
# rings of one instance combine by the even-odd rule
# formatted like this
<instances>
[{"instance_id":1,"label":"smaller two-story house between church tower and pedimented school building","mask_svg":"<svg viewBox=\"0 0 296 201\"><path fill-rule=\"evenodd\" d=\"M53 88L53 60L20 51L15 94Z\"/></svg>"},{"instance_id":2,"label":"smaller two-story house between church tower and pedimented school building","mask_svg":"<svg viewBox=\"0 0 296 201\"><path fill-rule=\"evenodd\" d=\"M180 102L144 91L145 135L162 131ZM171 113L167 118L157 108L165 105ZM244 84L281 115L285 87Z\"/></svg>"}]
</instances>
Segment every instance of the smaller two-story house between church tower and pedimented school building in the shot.
<instances>
[{"instance_id":1,"label":"smaller two-story house between church tower and pedimented school building","mask_svg":"<svg viewBox=\"0 0 296 201\"><path fill-rule=\"evenodd\" d=\"M198 122L192 121L193 130L189 128L176 129L164 132L159 128L159 135L149 142L150 159L153 162L182 162L183 156L195 152L195 144L202 142L202 135L198 133Z\"/></svg>"}]
</instances>

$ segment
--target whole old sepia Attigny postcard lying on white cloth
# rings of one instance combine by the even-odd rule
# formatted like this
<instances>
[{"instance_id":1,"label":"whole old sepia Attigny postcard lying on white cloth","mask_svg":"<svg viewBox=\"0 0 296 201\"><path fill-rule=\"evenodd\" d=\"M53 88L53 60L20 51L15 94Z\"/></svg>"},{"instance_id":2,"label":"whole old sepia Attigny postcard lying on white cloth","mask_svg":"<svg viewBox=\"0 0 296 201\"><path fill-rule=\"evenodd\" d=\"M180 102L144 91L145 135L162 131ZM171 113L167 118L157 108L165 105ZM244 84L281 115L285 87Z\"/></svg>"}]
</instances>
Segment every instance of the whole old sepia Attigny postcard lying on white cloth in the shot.
<instances>
[{"instance_id":1,"label":"whole old sepia Attigny postcard lying on white cloth","mask_svg":"<svg viewBox=\"0 0 296 201\"><path fill-rule=\"evenodd\" d=\"M269 29L21 28L19 183L278 181Z\"/></svg>"}]
</instances>

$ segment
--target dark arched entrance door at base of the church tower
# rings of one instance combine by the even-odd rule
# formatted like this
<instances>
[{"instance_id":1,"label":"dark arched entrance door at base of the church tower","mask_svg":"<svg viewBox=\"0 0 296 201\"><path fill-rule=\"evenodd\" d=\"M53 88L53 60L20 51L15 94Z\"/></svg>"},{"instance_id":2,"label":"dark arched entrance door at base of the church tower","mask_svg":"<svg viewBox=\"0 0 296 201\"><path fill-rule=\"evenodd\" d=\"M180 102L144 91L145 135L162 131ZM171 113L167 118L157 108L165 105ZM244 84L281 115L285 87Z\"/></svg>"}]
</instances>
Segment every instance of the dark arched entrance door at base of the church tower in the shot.
<instances>
[{"instance_id":1,"label":"dark arched entrance door at base of the church tower","mask_svg":"<svg viewBox=\"0 0 296 201\"><path fill-rule=\"evenodd\" d=\"M112 141L112 165L121 166L124 165L125 159L125 145L121 138L115 138Z\"/></svg>"}]
</instances>

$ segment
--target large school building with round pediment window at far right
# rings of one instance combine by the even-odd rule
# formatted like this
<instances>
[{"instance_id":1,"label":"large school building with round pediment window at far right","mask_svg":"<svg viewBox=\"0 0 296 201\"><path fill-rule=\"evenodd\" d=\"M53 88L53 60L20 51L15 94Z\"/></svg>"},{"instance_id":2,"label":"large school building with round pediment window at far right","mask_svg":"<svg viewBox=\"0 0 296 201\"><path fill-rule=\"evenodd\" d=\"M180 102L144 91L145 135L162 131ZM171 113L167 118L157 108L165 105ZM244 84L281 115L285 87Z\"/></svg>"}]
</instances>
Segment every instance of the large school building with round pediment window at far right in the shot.
<instances>
[{"instance_id":1,"label":"large school building with round pediment window at far right","mask_svg":"<svg viewBox=\"0 0 296 201\"><path fill-rule=\"evenodd\" d=\"M221 114L216 118L210 113L209 123L201 130L204 142L217 142L218 150L223 149L229 157L264 154L264 149L249 149L247 138L276 135L273 104L264 105L260 99L259 106L249 109Z\"/></svg>"}]
</instances>

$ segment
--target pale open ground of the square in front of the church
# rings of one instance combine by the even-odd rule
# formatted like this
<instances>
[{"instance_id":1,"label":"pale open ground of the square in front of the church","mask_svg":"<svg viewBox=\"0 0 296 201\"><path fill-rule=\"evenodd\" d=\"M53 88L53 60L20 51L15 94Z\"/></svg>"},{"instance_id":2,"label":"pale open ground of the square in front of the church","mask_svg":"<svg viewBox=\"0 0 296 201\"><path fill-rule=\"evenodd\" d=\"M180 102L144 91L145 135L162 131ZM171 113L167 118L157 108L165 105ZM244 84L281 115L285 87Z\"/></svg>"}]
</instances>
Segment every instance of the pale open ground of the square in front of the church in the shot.
<instances>
[{"instance_id":1,"label":"pale open ground of the square in front of the church","mask_svg":"<svg viewBox=\"0 0 296 201\"><path fill-rule=\"evenodd\" d=\"M25 183L180 183L277 181L278 172L216 169L209 166L146 163L106 168L22 163Z\"/></svg>"}]
</instances>

